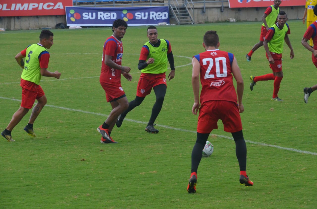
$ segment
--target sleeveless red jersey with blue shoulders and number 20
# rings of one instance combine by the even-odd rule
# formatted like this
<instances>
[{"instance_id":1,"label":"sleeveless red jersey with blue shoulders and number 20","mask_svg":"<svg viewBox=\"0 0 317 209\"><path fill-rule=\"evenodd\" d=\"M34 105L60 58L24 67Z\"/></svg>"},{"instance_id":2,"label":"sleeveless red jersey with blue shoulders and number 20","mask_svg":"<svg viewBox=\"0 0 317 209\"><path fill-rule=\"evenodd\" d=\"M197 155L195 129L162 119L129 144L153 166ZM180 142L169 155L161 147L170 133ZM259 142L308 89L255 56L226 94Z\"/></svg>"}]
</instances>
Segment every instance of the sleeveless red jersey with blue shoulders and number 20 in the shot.
<instances>
[{"instance_id":1,"label":"sleeveless red jersey with blue shoulders and number 20","mask_svg":"<svg viewBox=\"0 0 317 209\"><path fill-rule=\"evenodd\" d=\"M194 57L200 63L200 82L202 85L200 103L210 100L225 100L237 103L231 69L234 55L216 49L205 51Z\"/></svg>"}]
</instances>

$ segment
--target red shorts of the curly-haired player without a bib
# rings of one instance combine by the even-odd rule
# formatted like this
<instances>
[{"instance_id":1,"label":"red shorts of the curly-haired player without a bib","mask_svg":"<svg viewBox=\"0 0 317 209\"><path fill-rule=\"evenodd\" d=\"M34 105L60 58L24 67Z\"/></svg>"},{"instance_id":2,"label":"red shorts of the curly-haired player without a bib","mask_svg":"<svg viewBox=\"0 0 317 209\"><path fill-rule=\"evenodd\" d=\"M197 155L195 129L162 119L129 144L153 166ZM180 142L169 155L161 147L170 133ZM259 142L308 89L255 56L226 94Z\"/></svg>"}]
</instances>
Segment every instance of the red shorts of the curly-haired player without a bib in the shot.
<instances>
[{"instance_id":1,"label":"red shorts of the curly-haired player without a bib","mask_svg":"<svg viewBox=\"0 0 317 209\"><path fill-rule=\"evenodd\" d=\"M100 85L106 92L107 102L116 101L126 95L120 82L105 83L100 81Z\"/></svg>"}]
</instances>

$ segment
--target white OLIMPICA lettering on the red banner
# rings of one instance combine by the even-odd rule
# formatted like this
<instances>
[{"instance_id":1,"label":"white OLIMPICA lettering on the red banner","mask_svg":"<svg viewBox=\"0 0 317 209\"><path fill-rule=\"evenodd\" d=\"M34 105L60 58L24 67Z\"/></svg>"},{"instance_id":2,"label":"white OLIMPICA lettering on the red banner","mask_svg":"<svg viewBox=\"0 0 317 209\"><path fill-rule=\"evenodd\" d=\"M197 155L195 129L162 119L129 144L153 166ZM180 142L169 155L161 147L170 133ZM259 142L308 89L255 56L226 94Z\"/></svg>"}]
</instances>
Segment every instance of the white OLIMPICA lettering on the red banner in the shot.
<instances>
[{"instance_id":1,"label":"white OLIMPICA lettering on the red banner","mask_svg":"<svg viewBox=\"0 0 317 209\"><path fill-rule=\"evenodd\" d=\"M10 7L10 6L9 6ZM54 5L54 3L52 2L48 2L48 3L13 3L11 4L11 9L10 8L7 8L7 4L0 4L0 10L33 10L33 9L36 9L38 8L39 10L41 9L64 9L64 6L63 6L63 3L61 2L58 2L56 3L56 5Z\"/></svg>"}]
</instances>

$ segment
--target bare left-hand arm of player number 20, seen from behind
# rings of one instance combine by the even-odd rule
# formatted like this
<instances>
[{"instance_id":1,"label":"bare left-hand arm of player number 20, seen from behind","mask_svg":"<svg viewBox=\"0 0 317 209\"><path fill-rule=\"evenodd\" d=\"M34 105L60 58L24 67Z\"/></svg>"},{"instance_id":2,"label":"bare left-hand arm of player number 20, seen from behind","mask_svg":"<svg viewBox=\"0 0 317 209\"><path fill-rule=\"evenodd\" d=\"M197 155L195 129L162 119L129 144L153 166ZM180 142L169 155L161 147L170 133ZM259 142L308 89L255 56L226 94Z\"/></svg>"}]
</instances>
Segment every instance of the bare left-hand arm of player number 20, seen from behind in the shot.
<instances>
[{"instance_id":1,"label":"bare left-hand arm of player number 20, seen from behind","mask_svg":"<svg viewBox=\"0 0 317 209\"><path fill-rule=\"evenodd\" d=\"M194 57L191 61L191 64L193 65L192 69L192 76L191 76L191 85L193 87L194 91L194 105L191 109L191 112L194 115L197 115L197 112L199 110L199 88L200 88L200 82L199 82L199 72L200 72L200 64L198 60Z\"/></svg>"}]
</instances>

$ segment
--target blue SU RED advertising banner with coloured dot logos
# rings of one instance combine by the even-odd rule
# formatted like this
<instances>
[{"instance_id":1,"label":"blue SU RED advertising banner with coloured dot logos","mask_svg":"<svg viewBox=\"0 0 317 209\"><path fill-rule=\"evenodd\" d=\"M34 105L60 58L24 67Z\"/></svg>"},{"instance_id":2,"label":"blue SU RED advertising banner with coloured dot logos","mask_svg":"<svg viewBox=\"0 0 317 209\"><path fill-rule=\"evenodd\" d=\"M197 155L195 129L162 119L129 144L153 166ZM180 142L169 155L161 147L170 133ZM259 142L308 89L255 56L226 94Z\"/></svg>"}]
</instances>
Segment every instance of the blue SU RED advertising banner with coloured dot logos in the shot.
<instances>
[{"instance_id":1,"label":"blue SU RED advertising banner with coloured dot logos","mask_svg":"<svg viewBox=\"0 0 317 209\"><path fill-rule=\"evenodd\" d=\"M158 7L65 7L67 26L112 26L123 19L129 26L170 23L168 6Z\"/></svg>"}]
</instances>

